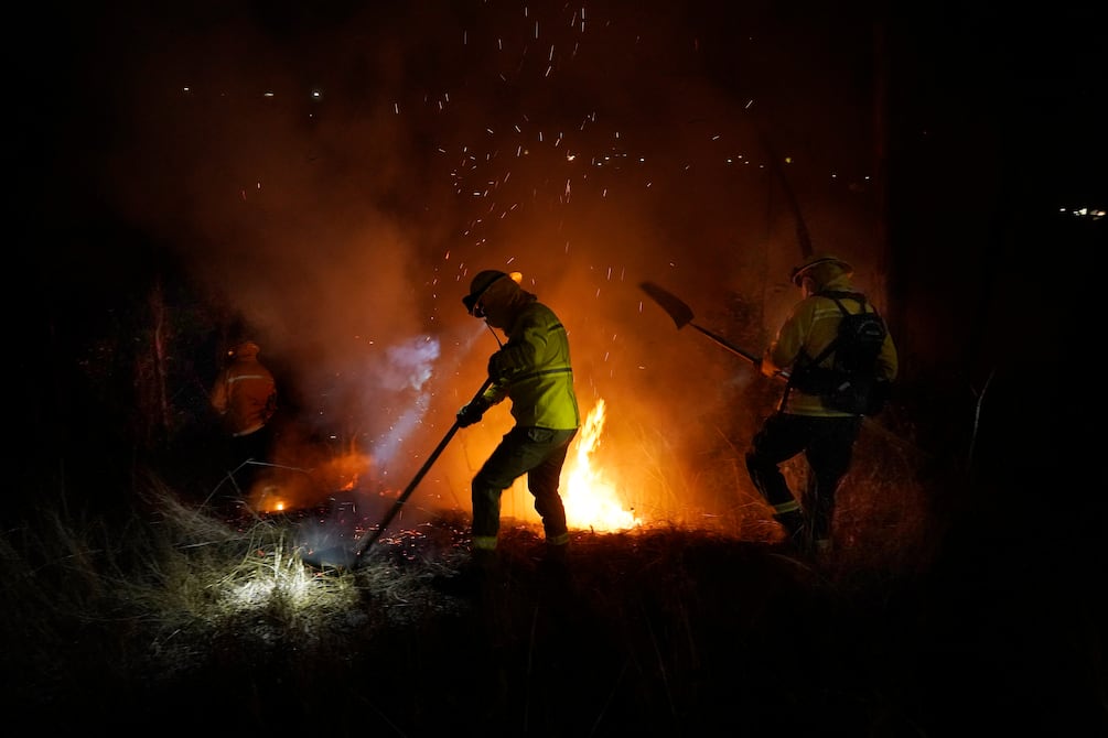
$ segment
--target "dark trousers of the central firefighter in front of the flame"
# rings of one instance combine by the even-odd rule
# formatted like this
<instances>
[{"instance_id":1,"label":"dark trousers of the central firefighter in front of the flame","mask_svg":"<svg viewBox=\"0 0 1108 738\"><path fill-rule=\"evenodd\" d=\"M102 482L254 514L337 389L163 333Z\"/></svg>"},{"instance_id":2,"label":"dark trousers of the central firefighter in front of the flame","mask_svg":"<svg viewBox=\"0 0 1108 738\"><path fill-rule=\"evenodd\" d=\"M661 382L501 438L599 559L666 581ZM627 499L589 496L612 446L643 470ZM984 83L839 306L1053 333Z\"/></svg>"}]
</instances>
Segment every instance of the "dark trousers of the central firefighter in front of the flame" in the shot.
<instances>
[{"instance_id":1,"label":"dark trousers of the central firefighter in front of the flame","mask_svg":"<svg viewBox=\"0 0 1108 738\"><path fill-rule=\"evenodd\" d=\"M535 498L535 511L543 520L548 543L564 543L567 534L565 507L558 493L562 466L576 429L515 427L473 477L473 545L496 548L500 531L500 497L522 475Z\"/></svg>"}]
</instances>

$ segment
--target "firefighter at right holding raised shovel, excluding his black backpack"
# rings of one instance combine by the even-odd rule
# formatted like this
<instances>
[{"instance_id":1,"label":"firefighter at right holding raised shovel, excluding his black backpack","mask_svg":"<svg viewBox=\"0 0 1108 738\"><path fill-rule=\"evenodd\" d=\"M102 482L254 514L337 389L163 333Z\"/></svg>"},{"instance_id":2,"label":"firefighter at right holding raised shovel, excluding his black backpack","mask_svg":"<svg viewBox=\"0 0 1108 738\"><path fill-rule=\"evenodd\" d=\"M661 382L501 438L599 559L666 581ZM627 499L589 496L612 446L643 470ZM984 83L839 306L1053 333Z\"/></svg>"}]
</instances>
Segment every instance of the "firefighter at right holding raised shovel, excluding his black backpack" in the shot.
<instances>
[{"instance_id":1,"label":"firefighter at right holding raised shovel, excluding his black backpack","mask_svg":"<svg viewBox=\"0 0 1108 738\"><path fill-rule=\"evenodd\" d=\"M810 257L792 270L792 282L800 288L801 301L766 350L760 363L762 374L796 373L801 362L823 354L838 335L842 313L834 300L819 293L856 293L852 274L853 268L848 262L827 254ZM856 301L841 302L849 312L861 309ZM827 356L821 364L832 358L833 355ZM879 381L896 378L896 349L888 333L874 371ZM773 517L789 540L802 551L823 553L831 548L835 493L850 468L861 424L861 415L829 407L820 395L790 383L777 412L766 419L747 451L751 481L773 508ZM808 461L811 480L801 499L797 499L780 465L801 453Z\"/></svg>"}]
</instances>

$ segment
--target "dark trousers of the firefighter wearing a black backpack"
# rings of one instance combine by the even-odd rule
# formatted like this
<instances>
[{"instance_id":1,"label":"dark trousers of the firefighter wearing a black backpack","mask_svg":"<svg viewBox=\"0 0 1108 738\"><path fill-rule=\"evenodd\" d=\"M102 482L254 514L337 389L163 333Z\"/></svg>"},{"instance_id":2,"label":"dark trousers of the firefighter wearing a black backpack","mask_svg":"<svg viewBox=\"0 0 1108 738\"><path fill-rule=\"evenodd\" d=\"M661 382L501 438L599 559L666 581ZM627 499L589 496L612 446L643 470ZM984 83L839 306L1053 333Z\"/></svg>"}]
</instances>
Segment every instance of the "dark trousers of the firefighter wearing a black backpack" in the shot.
<instances>
[{"instance_id":1,"label":"dark trousers of the firefighter wearing a black backpack","mask_svg":"<svg viewBox=\"0 0 1108 738\"><path fill-rule=\"evenodd\" d=\"M759 493L774 508L798 498L780 465L803 453L812 484L800 495L813 539L831 537L834 497L850 468L862 418L824 418L777 413L762 424L747 451L747 471Z\"/></svg>"}]
</instances>

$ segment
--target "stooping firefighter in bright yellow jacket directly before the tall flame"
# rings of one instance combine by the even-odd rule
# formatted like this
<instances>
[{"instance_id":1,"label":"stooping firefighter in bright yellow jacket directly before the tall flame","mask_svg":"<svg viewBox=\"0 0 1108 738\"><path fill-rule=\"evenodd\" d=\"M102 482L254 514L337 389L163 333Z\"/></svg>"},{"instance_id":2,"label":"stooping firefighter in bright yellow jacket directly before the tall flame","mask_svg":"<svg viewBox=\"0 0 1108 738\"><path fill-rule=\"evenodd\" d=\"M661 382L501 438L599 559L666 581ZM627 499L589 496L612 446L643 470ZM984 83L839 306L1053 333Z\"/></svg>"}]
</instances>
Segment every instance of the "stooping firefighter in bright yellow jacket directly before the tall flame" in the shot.
<instances>
[{"instance_id":1,"label":"stooping firefighter in bright yellow jacket directly before the tall flame","mask_svg":"<svg viewBox=\"0 0 1108 738\"><path fill-rule=\"evenodd\" d=\"M473 563L495 560L501 493L522 475L543 522L548 559L564 560L570 533L558 492L570 443L581 426L565 326L520 274L479 272L462 298L466 311L503 331L507 341L489 358L492 384L458 410L458 424L479 422L491 406L511 401L515 420L473 478Z\"/></svg>"}]
</instances>

